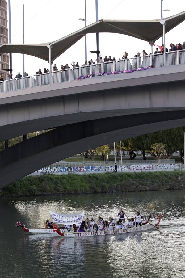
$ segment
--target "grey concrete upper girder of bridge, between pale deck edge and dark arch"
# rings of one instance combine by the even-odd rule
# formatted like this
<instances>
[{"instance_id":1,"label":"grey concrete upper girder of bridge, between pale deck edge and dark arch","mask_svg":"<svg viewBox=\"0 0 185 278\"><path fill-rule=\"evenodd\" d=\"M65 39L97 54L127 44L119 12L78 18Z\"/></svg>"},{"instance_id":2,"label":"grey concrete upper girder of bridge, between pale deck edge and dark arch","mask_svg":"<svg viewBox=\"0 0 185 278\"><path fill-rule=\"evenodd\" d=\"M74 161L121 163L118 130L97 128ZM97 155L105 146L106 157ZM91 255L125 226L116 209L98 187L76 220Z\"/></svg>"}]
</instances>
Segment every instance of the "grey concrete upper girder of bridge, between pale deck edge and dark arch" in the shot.
<instances>
[{"instance_id":1,"label":"grey concrete upper girder of bridge, between pale deck edge and dark arch","mask_svg":"<svg viewBox=\"0 0 185 278\"><path fill-rule=\"evenodd\" d=\"M153 77L153 82L157 81L158 77ZM122 86L124 82L122 80ZM178 81L103 90L104 84L99 84L99 91L94 92L62 96L62 91L58 89L56 96L48 91L50 95L53 94L51 98L48 94L44 98L46 93L42 92L43 99L28 98L22 102L18 99L17 103L0 106L0 141L84 120L184 110L184 86L185 81Z\"/></svg>"}]
</instances>

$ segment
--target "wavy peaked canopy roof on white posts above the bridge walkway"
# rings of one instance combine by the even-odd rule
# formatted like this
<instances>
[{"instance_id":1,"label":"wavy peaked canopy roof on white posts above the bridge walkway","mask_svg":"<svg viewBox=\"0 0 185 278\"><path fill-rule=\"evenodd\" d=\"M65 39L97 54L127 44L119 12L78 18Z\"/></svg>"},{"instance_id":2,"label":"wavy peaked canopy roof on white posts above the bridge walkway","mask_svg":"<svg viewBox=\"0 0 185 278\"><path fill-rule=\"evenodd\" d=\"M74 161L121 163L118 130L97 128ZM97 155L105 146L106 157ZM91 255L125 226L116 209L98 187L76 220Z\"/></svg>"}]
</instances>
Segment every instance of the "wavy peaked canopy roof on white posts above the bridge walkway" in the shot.
<instances>
[{"instance_id":1,"label":"wavy peaked canopy roof on white posts above the bridge walkway","mask_svg":"<svg viewBox=\"0 0 185 278\"><path fill-rule=\"evenodd\" d=\"M52 46L51 59L54 61L68 48L89 33L118 33L148 41L153 44L163 35L162 21L166 33L185 20L185 11L164 19L154 20L99 20L59 40L44 44L2 44L0 53L21 53L32 55L49 62L48 46Z\"/></svg>"}]
</instances>

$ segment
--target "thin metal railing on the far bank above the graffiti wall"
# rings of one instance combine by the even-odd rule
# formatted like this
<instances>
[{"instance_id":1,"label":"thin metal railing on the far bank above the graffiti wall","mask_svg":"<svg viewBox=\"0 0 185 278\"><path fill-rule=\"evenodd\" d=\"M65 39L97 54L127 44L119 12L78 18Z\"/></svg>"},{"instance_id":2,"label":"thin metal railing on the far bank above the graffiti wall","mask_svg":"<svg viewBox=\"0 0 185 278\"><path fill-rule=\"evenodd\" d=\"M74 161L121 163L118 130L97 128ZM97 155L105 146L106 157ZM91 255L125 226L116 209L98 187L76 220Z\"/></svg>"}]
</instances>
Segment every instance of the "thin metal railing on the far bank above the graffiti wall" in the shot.
<instances>
[{"instance_id":1,"label":"thin metal railing on the far bank above the graffiti wall","mask_svg":"<svg viewBox=\"0 0 185 278\"><path fill-rule=\"evenodd\" d=\"M116 164L119 165L136 165L136 164L140 164L140 165L145 165L145 164L175 164L175 159L161 159L161 162L158 162L158 159L147 159L147 160L122 160L121 161L117 161L116 160ZM70 166L74 166L74 167L79 167L79 166L103 166L103 165L114 165L114 160L110 160L110 161L94 161L94 162L85 162L85 164L83 162L77 161L77 162L56 162L53 163L51 165L48 165L46 167L70 167Z\"/></svg>"}]
</instances>

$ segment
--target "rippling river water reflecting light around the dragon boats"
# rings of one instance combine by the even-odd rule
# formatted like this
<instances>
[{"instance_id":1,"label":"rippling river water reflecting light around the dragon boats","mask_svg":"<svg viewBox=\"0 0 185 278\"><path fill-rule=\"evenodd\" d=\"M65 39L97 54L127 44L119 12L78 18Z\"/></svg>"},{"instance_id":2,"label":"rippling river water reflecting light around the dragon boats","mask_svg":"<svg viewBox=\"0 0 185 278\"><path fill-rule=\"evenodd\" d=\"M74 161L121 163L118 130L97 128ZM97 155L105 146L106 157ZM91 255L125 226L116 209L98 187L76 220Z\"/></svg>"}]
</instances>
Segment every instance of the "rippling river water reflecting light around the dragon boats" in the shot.
<instances>
[{"instance_id":1,"label":"rippling river water reflecting light around the dragon boats","mask_svg":"<svg viewBox=\"0 0 185 278\"><path fill-rule=\"evenodd\" d=\"M137 209L160 229L87 238L31 235L15 227L42 228L49 209L84 211L87 217L127 216ZM185 190L90 194L0 200L1 277L185 277ZM160 232L159 232L160 231Z\"/></svg>"}]
</instances>

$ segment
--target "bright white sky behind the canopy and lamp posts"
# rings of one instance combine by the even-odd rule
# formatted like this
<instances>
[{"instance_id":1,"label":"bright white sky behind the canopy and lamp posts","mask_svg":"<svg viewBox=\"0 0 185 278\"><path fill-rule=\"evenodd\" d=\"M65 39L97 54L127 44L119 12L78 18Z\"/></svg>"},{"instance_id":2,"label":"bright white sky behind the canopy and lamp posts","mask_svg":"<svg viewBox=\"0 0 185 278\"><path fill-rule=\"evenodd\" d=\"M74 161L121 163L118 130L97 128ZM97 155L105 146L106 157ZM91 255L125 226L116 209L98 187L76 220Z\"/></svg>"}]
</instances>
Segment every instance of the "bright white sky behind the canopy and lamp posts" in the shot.
<instances>
[{"instance_id":1,"label":"bright white sky behind the canopy and lamp posts","mask_svg":"<svg viewBox=\"0 0 185 278\"><path fill-rule=\"evenodd\" d=\"M7 0L8 2L8 0ZM78 20L85 17L84 0L10 0L11 2L11 40L12 43L23 42L23 4L24 4L24 39L25 44L46 43L58 40L74 31L84 27L84 21ZM176 4L177 3L177 4ZM178 14L185 10L185 1L163 0L163 17ZM98 0L99 19L159 19L161 18L161 0ZM96 21L95 0L86 0L87 25ZM9 23L8 23L9 24ZM185 21L166 34L166 47L170 43L185 41ZM155 44L161 45L161 39ZM100 33L99 46L102 57L121 58L124 51L128 58L134 57L142 50L149 54L151 46L148 42L130 36ZM87 35L87 60L96 60L96 54L89 51L96 49L96 34ZM153 47L153 51L155 51ZM78 61L79 65L85 62L85 38L79 40L53 64ZM49 68L47 61L25 55L25 71L35 75L38 69ZM18 72L23 73L23 55L12 54L13 76Z\"/></svg>"}]
</instances>

